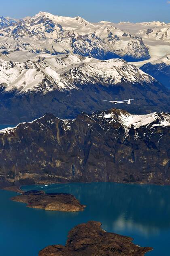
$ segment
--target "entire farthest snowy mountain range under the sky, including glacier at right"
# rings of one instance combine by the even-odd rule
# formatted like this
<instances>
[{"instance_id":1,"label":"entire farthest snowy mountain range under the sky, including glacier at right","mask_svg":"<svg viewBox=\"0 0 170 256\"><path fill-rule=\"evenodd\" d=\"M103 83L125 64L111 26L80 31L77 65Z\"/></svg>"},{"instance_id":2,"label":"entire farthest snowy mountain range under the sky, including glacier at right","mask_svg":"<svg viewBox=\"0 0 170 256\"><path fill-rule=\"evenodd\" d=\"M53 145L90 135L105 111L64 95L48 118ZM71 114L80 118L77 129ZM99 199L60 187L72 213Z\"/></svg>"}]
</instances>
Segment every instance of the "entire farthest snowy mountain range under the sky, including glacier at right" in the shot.
<instances>
[{"instance_id":1,"label":"entire farthest snowy mountain range under the sky, including glacier at right","mask_svg":"<svg viewBox=\"0 0 170 256\"><path fill-rule=\"evenodd\" d=\"M143 61L150 56L155 60L170 50L170 24L159 21L92 23L79 16L63 17L47 12L13 19L14 22L9 17L4 19L10 24L0 28L0 48L6 50L20 47L34 53L70 52L97 59L121 57L127 61Z\"/></svg>"}]
</instances>

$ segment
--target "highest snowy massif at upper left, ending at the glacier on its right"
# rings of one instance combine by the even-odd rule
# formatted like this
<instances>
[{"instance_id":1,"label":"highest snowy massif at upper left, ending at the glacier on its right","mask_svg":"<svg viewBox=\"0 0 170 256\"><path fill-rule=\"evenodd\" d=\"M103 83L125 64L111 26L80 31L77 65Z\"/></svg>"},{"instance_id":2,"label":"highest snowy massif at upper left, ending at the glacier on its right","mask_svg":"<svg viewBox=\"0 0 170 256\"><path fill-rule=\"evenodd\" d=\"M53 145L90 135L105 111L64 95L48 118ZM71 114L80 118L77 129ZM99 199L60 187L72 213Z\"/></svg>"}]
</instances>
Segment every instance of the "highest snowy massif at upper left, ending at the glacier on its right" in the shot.
<instances>
[{"instance_id":1,"label":"highest snowy massif at upper left, ending at the glacier on its right","mask_svg":"<svg viewBox=\"0 0 170 256\"><path fill-rule=\"evenodd\" d=\"M40 12L0 29L0 35L1 48L6 49L17 39L18 46L35 53L70 52L97 59L120 56L128 61L149 59L148 48L140 36L110 24L90 23L79 16L71 18Z\"/></svg>"}]
</instances>

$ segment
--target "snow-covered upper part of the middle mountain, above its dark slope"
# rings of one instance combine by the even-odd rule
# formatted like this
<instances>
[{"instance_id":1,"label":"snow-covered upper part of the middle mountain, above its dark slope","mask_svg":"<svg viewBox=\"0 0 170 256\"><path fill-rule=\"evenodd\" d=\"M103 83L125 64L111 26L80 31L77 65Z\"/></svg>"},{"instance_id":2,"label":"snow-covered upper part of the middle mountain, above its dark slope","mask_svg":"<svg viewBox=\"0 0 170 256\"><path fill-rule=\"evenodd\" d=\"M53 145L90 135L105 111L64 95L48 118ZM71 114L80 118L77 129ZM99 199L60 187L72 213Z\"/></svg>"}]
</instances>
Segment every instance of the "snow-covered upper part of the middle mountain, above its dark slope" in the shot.
<instances>
[{"instance_id":1,"label":"snow-covered upper part of the middle mountain, above its dark slope","mask_svg":"<svg viewBox=\"0 0 170 256\"><path fill-rule=\"evenodd\" d=\"M7 54L8 56L8 54ZM154 79L123 59L100 61L77 54L37 54L26 62L0 60L0 91L47 93L81 85L153 83Z\"/></svg>"}]
</instances>

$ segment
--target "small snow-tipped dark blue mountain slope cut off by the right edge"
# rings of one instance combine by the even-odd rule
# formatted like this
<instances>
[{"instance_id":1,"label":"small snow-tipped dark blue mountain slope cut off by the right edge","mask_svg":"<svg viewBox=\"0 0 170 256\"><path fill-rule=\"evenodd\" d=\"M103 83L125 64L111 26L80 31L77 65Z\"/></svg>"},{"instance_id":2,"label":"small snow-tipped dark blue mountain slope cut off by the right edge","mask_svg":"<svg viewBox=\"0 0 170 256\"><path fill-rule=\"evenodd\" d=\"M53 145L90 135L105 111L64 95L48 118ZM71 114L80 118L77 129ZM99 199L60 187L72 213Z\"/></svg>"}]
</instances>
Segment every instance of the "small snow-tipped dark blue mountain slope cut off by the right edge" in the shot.
<instances>
[{"instance_id":1,"label":"small snow-tipped dark blue mountain slope cut off by the right edge","mask_svg":"<svg viewBox=\"0 0 170 256\"><path fill-rule=\"evenodd\" d=\"M170 54L143 65L141 70L170 89Z\"/></svg>"}]
</instances>

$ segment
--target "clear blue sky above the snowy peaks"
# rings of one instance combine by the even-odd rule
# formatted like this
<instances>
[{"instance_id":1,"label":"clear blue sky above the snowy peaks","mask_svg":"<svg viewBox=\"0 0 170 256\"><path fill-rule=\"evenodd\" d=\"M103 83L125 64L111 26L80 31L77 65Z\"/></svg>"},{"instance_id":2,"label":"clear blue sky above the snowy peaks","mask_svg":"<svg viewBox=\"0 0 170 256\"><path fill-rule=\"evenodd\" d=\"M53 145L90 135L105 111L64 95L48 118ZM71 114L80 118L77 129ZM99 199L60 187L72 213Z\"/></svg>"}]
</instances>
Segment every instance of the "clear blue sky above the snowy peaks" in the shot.
<instances>
[{"instance_id":1,"label":"clear blue sky above the snowy peaks","mask_svg":"<svg viewBox=\"0 0 170 256\"><path fill-rule=\"evenodd\" d=\"M170 1L166 0L0 0L0 16L22 18L39 11L79 15L91 22L170 22Z\"/></svg>"}]
</instances>

